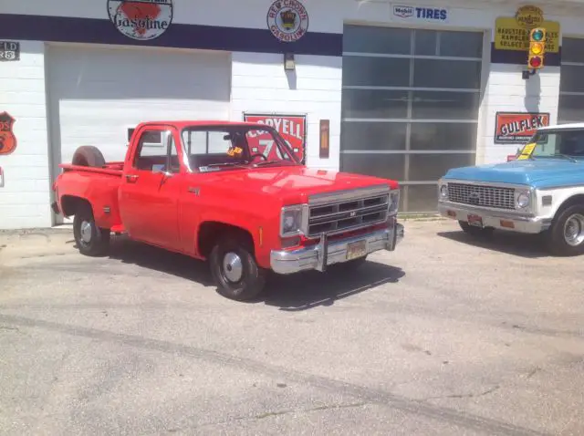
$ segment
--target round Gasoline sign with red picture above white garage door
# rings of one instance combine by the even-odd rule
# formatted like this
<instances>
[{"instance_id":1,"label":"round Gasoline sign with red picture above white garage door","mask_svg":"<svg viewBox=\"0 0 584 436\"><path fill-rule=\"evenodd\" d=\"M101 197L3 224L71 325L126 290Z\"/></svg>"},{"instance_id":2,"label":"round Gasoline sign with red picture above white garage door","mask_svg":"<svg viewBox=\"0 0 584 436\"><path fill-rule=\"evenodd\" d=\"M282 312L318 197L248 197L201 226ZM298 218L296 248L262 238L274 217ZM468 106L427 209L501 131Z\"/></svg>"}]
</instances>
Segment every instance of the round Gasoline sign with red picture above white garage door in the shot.
<instances>
[{"instance_id":1,"label":"round Gasoline sign with red picture above white garage door","mask_svg":"<svg viewBox=\"0 0 584 436\"><path fill-rule=\"evenodd\" d=\"M108 0L108 13L123 35L146 41L172 25L172 0Z\"/></svg>"}]
</instances>

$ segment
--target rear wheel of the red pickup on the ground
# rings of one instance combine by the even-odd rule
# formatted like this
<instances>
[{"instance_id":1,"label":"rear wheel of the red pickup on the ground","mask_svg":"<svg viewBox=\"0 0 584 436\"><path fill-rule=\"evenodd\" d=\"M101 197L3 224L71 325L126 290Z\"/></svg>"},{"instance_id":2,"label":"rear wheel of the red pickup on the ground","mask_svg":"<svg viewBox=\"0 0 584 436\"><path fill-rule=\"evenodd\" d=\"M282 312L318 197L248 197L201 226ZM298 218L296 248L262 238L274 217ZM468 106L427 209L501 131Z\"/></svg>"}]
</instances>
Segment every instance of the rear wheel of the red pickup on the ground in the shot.
<instances>
[{"instance_id":1,"label":"rear wheel of the red pickup on the ground","mask_svg":"<svg viewBox=\"0 0 584 436\"><path fill-rule=\"evenodd\" d=\"M82 204L75 211L73 236L81 254L103 255L110 246L110 229L101 229L96 225L89 204Z\"/></svg>"}]
</instances>

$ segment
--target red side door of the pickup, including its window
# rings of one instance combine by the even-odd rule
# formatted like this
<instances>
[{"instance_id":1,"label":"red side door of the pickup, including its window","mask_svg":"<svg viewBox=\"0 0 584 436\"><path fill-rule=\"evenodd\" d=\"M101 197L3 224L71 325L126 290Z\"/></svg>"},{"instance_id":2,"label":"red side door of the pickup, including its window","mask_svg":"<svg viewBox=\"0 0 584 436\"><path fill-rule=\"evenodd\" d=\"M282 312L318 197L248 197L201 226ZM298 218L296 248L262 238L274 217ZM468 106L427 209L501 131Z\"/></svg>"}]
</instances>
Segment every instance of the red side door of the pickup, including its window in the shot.
<instances>
[{"instance_id":1,"label":"red side door of the pickup, including its window","mask_svg":"<svg viewBox=\"0 0 584 436\"><path fill-rule=\"evenodd\" d=\"M122 223L132 239L180 250L179 196L185 177L178 133L171 126L148 125L135 138L120 186Z\"/></svg>"}]
</instances>

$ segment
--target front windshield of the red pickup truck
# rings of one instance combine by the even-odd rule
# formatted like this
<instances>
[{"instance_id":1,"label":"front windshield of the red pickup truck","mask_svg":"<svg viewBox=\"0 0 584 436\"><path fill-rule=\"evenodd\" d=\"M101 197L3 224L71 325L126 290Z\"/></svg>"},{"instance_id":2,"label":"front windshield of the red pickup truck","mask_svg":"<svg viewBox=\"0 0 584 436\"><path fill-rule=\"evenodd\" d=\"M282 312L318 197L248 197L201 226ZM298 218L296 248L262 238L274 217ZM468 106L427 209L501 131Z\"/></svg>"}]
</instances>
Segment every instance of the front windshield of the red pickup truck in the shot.
<instances>
[{"instance_id":1,"label":"front windshield of the red pickup truck","mask_svg":"<svg viewBox=\"0 0 584 436\"><path fill-rule=\"evenodd\" d=\"M193 126L183 130L182 140L193 171L299 165L294 152L271 128Z\"/></svg>"}]
</instances>

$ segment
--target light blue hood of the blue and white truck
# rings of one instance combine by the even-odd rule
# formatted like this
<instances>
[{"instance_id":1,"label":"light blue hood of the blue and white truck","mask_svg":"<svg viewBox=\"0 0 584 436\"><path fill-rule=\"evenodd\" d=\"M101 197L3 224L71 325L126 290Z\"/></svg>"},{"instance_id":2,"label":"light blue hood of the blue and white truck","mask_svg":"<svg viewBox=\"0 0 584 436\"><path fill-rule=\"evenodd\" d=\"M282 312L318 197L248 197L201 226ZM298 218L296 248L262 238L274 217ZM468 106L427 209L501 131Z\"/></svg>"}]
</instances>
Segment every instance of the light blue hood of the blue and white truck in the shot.
<instances>
[{"instance_id":1,"label":"light blue hood of the blue and white truck","mask_svg":"<svg viewBox=\"0 0 584 436\"><path fill-rule=\"evenodd\" d=\"M458 179L475 182L499 182L526 185L543 185L547 181L574 178L584 179L584 161L542 158L525 161L510 161L474 167L454 168L446 172L443 179Z\"/></svg>"}]
</instances>

